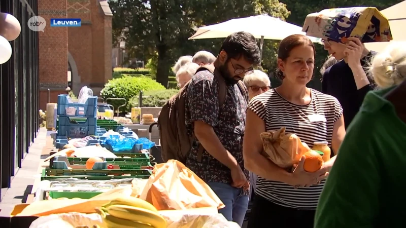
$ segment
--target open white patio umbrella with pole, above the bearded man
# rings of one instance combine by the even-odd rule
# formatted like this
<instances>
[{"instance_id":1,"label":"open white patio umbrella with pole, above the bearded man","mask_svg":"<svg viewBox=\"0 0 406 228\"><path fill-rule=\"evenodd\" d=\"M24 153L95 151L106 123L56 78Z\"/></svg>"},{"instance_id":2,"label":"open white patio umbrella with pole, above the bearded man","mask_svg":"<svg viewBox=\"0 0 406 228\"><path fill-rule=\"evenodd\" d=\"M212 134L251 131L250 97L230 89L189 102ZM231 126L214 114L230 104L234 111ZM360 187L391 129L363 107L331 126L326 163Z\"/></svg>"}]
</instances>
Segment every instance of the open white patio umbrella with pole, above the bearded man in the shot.
<instances>
[{"instance_id":1,"label":"open white patio umbrella with pole, above the bearded man","mask_svg":"<svg viewBox=\"0 0 406 228\"><path fill-rule=\"evenodd\" d=\"M268 15L257 15L244 18L231 19L219 24L199 27L190 36L188 40L196 39L214 39L225 38L231 33L245 31L251 33L256 39L261 39L260 51L262 59L263 40L283 40L286 36L292 34L303 34L301 27L282 21L279 18ZM321 40L315 37L309 37L314 43L320 43Z\"/></svg>"}]
</instances>

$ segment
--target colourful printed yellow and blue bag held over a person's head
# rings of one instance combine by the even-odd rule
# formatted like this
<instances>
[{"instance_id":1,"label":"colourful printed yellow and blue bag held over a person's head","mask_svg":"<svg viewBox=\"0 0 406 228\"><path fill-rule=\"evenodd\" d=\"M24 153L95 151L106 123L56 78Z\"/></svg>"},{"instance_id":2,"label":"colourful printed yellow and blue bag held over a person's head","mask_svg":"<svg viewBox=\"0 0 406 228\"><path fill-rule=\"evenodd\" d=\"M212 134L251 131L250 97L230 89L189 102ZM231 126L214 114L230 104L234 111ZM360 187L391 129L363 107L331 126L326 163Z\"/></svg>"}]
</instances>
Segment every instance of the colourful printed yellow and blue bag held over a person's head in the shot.
<instances>
[{"instance_id":1,"label":"colourful printed yellow and blue bag held over a person's head","mask_svg":"<svg viewBox=\"0 0 406 228\"><path fill-rule=\"evenodd\" d=\"M309 14L303 32L324 40L346 43L348 37L361 42L393 40L389 21L375 7L352 7L322 10Z\"/></svg>"}]
</instances>

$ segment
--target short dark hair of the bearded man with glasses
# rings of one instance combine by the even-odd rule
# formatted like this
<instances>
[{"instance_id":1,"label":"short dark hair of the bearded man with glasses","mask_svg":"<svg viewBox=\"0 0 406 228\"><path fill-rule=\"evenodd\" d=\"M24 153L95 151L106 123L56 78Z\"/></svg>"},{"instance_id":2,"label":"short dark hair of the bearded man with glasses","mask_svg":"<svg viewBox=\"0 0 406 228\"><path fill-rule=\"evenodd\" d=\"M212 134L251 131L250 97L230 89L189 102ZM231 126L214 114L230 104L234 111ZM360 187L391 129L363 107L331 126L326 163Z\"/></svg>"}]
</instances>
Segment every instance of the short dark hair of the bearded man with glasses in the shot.
<instances>
[{"instance_id":1,"label":"short dark hair of the bearded man with glasses","mask_svg":"<svg viewBox=\"0 0 406 228\"><path fill-rule=\"evenodd\" d=\"M223 50L227 53L228 59L238 59L243 55L252 64L260 63L261 53L251 33L234 32L227 36L221 45L220 52Z\"/></svg>"}]
</instances>

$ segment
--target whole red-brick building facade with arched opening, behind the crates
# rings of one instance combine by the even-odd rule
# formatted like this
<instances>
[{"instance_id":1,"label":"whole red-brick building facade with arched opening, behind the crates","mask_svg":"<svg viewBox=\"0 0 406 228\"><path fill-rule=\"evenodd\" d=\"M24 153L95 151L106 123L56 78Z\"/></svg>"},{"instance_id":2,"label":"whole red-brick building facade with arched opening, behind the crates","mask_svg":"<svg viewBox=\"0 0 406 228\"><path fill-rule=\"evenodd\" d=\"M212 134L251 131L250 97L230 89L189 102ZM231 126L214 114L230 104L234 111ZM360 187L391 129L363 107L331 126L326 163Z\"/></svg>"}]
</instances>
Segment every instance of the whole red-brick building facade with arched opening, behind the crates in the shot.
<instances>
[{"instance_id":1,"label":"whole red-brick building facade with arched opening, behind the crates","mask_svg":"<svg viewBox=\"0 0 406 228\"><path fill-rule=\"evenodd\" d=\"M79 95L83 86L99 96L101 88L112 78L112 16L106 13L99 0L41 0L39 16L47 21L45 32L40 32L40 108L58 94L66 94L67 55L75 60L78 75L73 76L72 91ZM51 18L80 18L81 27L50 27Z\"/></svg>"}]
</instances>

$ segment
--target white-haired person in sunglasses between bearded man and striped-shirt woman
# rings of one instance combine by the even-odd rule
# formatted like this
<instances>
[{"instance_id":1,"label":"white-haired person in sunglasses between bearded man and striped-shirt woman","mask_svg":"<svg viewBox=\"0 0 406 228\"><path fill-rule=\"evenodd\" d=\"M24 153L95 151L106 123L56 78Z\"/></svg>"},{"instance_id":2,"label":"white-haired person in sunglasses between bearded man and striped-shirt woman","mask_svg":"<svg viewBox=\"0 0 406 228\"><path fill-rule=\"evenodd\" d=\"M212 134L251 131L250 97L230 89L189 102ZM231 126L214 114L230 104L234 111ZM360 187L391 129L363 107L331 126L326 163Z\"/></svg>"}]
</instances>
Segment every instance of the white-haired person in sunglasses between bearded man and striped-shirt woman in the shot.
<instances>
[{"instance_id":1,"label":"white-haired person in sunglasses between bearded man and striped-shirt woman","mask_svg":"<svg viewBox=\"0 0 406 228\"><path fill-rule=\"evenodd\" d=\"M270 89L269 77L261 70L254 70L246 73L244 84L248 88L248 97L250 100L256 95L264 93Z\"/></svg>"}]
</instances>

